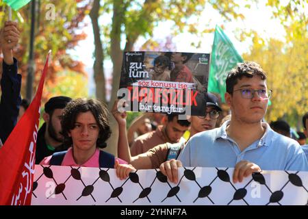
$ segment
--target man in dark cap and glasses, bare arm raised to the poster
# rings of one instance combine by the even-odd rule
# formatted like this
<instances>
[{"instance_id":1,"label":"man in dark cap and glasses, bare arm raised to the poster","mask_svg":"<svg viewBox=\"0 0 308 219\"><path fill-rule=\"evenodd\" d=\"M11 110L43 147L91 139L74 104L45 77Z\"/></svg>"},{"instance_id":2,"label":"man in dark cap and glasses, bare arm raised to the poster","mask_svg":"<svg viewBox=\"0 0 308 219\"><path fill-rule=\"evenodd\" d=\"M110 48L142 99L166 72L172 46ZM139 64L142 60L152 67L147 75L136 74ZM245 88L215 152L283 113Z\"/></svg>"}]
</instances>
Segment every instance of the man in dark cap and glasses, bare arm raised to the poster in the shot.
<instances>
[{"instance_id":1,"label":"man in dark cap and glasses, bare arm raised to the poster","mask_svg":"<svg viewBox=\"0 0 308 219\"><path fill-rule=\"evenodd\" d=\"M204 98L203 98L204 99ZM205 101L203 101L205 104ZM203 112L205 116L190 116L191 127L190 137L201 131L207 131L215 128L217 118L221 112L218 105L218 99L214 94L207 93L206 106L204 105ZM185 147L186 142L178 142L175 144L164 143L154 146L145 153L131 156L126 138L126 113L120 113L114 105L114 118L116 118L119 126L119 144L118 155L121 159L125 159L129 164L136 169L154 169L159 168L160 164L166 160L176 159ZM121 155L121 156L120 156Z\"/></svg>"}]
</instances>

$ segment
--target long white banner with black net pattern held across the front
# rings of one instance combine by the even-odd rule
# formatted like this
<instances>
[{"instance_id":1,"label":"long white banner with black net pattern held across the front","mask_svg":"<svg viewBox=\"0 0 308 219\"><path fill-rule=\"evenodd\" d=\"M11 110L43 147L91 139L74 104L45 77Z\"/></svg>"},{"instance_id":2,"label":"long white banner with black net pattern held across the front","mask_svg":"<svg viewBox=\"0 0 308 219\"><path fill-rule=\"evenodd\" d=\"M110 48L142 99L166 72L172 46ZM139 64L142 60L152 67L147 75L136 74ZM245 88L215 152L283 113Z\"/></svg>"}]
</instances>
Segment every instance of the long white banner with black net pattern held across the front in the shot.
<instances>
[{"instance_id":1,"label":"long white banner with black net pattern held across the front","mask_svg":"<svg viewBox=\"0 0 308 219\"><path fill-rule=\"evenodd\" d=\"M36 165L31 205L307 205L308 172L263 171L233 183L233 168L159 170L121 181L114 169Z\"/></svg>"}]
</instances>

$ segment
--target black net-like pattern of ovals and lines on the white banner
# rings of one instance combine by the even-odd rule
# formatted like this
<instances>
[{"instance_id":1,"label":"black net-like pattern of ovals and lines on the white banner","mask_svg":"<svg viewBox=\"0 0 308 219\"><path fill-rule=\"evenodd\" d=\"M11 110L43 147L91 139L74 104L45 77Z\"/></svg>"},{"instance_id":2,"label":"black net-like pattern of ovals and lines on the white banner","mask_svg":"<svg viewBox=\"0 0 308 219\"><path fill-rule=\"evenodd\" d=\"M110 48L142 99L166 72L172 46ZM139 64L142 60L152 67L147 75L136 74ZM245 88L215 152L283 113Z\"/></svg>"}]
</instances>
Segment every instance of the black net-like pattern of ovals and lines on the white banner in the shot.
<instances>
[{"instance_id":1,"label":"black net-like pattern of ovals and lines on the white banner","mask_svg":"<svg viewBox=\"0 0 308 219\"><path fill-rule=\"evenodd\" d=\"M196 173L194 172L196 168L192 168L192 169L183 168L183 172L181 173L181 175L179 175L179 177L180 177L179 183L177 183L177 185L175 185L175 186L170 185L170 182L168 181L167 177L165 175L163 175L162 172L160 172L159 170L155 170L156 174L155 174L153 181L151 181L151 185L144 186L145 184L143 183L144 185L142 185L142 183L140 181L140 175L138 174L138 170L136 170L136 172L131 172L129 174L129 177L122 183L122 185L120 185L120 186L118 185L115 188L111 183L111 180L110 180L111 178L110 178L110 175L108 173L108 171L110 171L110 169L106 170L106 169L99 168L97 179L94 178L95 180L94 180L93 183L88 183L88 185L86 185L86 183L84 183L84 179L81 176L81 172L79 171L81 167L78 167L78 168L70 167L70 175L68 175L68 177L64 178L65 181L62 181L61 183L59 183L58 181L55 180L56 175L55 175L55 172L53 172L53 166L40 166L40 167L42 168L41 174L36 179L36 181L34 181L34 184L33 184L33 196L34 196L34 198L37 198L36 192L37 192L38 186L40 185L40 179L42 179L42 177L46 177L45 179L52 179L53 182L56 185L53 193L49 194L49 196L47 196L47 199L50 198L52 195L57 195L57 196L62 195L65 198L65 200L67 200L66 195L65 195L65 191L66 191L66 187L67 187L66 183L68 182L68 180L73 180L73 181L80 181L80 183L84 187L83 190L79 191L80 195L76 199L76 201L79 201L79 199L81 199L82 197L91 196L94 203L97 202L96 201L97 198L94 197L94 195L97 195L97 194L94 194L95 183L97 183L97 181L99 181L99 180L104 182L104 183L108 183L110 185L110 187L112 188L112 192L109 195L110 198L107 198L107 200L105 200L105 203L109 203L112 198L116 198L116 199L118 199L119 203L123 203L123 201L120 199L120 196L124 195L123 194L124 193L123 186L128 181L131 181L131 183L136 184L136 186L138 186L140 188L140 191L134 189L134 191L136 190L136 197L133 200L131 200L131 203L135 203L139 199L145 199L145 200L148 201L148 203L151 203L151 199L150 199L151 193L160 192L160 191L154 191L153 188L152 188L155 181L157 181L157 183L162 183L163 185L167 185L168 188L169 188L168 190L166 190L166 194L165 194L164 198L161 199L161 203L164 203L164 201L166 201L166 199L172 198L172 197L176 198L176 199L172 199L172 200L175 200L175 203L174 203L175 205L177 204L176 203L177 201L179 203L181 203L182 201L179 198L179 195L181 194L181 183L182 183L183 179L185 179L185 183L187 183L188 181L192 181L192 183L195 183L195 185L198 185L198 193L195 194L194 197L196 197L196 198L194 198L192 203L195 203L200 198L201 199L207 198L213 205L215 205L216 203L214 202L213 198L211 197L213 195L213 191L214 191L214 188L215 188L215 187L213 187L212 184L215 181L222 181L224 183L229 184L231 186L230 188L233 188L233 190L234 190L233 197L229 201L229 203L227 203L227 205L230 205L231 203L233 203L233 201L240 201L240 200L242 200L246 205L250 205L250 203L248 203L246 201L245 197L248 194L247 186L250 185L252 182L257 182L259 185L264 186L264 188L266 188L265 190L268 190L268 192L270 192L270 195L268 196L268 203L266 203L266 205L270 205L271 203L281 205L281 201L283 201L283 198L285 196L283 189L288 184L293 185L297 188L303 188L302 190L305 190L308 194L307 180L305 181L305 184L304 184L303 180L298 175L298 172L289 173L287 171L284 171L285 174L287 175L287 177L285 177L287 182L285 182L280 189L279 188L278 188L278 190L274 189L274 192L272 192L272 190L270 190L270 188L268 187L268 185L266 183L266 179L265 179L264 175L262 175L261 172L253 173L253 175L251 176L251 179L248 180L248 183L246 183L246 185L244 185L244 186L241 185L241 186L243 186L242 188L235 188L235 185L233 185L233 183L231 182L231 177L229 175L229 172L230 172L229 168L225 168L225 169L216 168L216 170L217 170L216 176L214 176L212 179L209 179L209 181L207 181L207 183L201 181L200 178L196 177ZM112 170L112 171L114 171L114 170ZM63 180L63 178L62 178L62 180ZM216 190L217 190L217 188L216 188ZM78 192L78 191L76 191L76 192ZM200 201L198 203L200 203ZM238 203L235 203L235 204L238 204ZM306 205L308 205L308 201L307 201Z\"/></svg>"}]
</instances>

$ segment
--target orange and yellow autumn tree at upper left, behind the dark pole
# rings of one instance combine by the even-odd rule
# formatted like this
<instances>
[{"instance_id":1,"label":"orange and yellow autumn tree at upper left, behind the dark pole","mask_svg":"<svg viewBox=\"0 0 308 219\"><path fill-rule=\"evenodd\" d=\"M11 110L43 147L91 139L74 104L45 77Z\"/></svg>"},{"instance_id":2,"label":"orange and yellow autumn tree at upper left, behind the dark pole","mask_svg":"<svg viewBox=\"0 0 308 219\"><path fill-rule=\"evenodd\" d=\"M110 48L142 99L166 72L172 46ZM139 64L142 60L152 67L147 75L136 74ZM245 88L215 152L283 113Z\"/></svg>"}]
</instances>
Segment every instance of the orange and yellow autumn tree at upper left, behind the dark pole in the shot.
<instances>
[{"instance_id":1,"label":"orange and yellow autumn tree at upper left, behind the dark pole","mask_svg":"<svg viewBox=\"0 0 308 219\"><path fill-rule=\"evenodd\" d=\"M81 32L84 16L89 13L89 1L39 1L40 6L37 14L36 34L35 34L35 62L36 72L34 80L34 91L40 79L40 73L44 65L44 60L49 49L52 50L53 60L49 66L47 74L47 84L56 83L57 73L70 69L75 72L85 74L84 64L81 61L73 60L68 54L69 49L73 49L79 40L86 38L86 34ZM3 23L4 7L1 2L0 23ZM19 73L23 75L23 85L21 94L25 96L25 82L27 75L27 61L29 56L29 29L30 14L29 5L25 6L18 13L13 14L19 18L18 28L21 31L21 40L16 49L15 56L19 61ZM14 17L13 17L14 19ZM21 23L23 21L23 23ZM51 81L51 83L49 83ZM46 90L46 89L45 89ZM47 92L43 92L42 102L47 100Z\"/></svg>"}]
</instances>

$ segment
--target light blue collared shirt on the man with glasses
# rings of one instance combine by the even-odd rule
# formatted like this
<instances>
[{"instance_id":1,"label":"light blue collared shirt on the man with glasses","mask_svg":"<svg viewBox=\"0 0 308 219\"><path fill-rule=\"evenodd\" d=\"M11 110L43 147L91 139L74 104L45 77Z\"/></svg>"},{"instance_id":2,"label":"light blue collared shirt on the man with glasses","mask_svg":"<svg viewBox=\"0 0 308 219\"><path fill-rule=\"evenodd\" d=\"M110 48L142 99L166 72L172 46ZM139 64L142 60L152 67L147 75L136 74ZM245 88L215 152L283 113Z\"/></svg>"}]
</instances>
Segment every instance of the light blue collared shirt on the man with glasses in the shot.
<instances>
[{"instance_id":1,"label":"light blue collared shirt on the man with glasses","mask_svg":"<svg viewBox=\"0 0 308 219\"><path fill-rule=\"evenodd\" d=\"M196 133L179 155L183 166L229 167L242 160L257 164L262 170L308 171L308 162L298 142L274 132L268 123L264 136L244 151L226 132L230 120L222 127Z\"/></svg>"}]
</instances>

